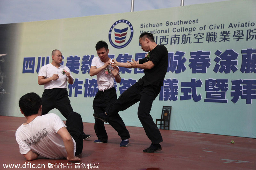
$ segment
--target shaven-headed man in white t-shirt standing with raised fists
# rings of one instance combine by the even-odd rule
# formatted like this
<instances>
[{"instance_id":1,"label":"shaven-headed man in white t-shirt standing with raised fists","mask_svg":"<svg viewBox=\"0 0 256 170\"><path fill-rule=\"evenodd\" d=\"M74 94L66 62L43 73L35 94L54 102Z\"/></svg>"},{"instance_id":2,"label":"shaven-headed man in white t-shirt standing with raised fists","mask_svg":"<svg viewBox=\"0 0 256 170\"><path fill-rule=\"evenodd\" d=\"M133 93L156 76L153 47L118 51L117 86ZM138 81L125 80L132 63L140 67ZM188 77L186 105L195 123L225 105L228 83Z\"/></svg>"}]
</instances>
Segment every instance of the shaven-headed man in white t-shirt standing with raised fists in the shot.
<instances>
[{"instance_id":1,"label":"shaven-headed man in white t-shirt standing with raised fists","mask_svg":"<svg viewBox=\"0 0 256 170\"><path fill-rule=\"evenodd\" d=\"M67 81L69 84L74 83L74 78L67 66L63 66L62 53L60 50L52 51L52 63L44 65L38 74L38 84L44 85L42 95L42 115L47 114L50 110L57 108L60 113L67 119L68 115L73 112L70 105L67 91ZM83 134L83 139L91 137Z\"/></svg>"}]
</instances>

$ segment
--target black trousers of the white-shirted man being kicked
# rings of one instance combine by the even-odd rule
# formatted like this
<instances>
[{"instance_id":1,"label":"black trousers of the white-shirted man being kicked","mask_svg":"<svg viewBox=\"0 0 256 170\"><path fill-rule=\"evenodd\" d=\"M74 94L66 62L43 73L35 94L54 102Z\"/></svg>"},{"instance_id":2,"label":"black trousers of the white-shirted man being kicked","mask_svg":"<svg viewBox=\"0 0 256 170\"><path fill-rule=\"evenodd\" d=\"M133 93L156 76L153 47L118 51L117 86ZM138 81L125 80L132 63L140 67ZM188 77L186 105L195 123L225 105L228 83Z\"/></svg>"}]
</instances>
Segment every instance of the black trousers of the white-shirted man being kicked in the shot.
<instances>
[{"instance_id":1,"label":"black trousers of the white-shirted man being kicked","mask_svg":"<svg viewBox=\"0 0 256 170\"><path fill-rule=\"evenodd\" d=\"M115 87L105 90L104 92L98 91L92 104L94 113L105 112L108 104L115 102L116 99L117 97ZM104 126L104 122L97 118L94 119L94 130L98 139L100 139L100 141L102 142L108 142L108 135ZM115 115L109 117L108 123L117 131L121 139L130 138L129 131L126 129L124 121L117 112L115 113Z\"/></svg>"}]
</instances>

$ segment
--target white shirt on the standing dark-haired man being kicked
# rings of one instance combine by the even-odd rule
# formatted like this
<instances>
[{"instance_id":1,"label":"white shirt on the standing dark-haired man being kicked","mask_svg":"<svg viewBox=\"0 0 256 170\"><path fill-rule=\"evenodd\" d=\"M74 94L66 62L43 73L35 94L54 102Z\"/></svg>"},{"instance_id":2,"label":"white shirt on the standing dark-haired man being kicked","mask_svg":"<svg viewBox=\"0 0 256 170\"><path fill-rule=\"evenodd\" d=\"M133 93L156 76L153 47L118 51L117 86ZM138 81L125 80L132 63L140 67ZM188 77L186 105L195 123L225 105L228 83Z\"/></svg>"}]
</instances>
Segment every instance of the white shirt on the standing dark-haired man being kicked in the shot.
<instances>
[{"instance_id":1,"label":"white shirt on the standing dark-haired man being kicked","mask_svg":"<svg viewBox=\"0 0 256 170\"><path fill-rule=\"evenodd\" d=\"M110 62L113 63L110 59ZM91 66L95 66L96 68L100 68L104 65L104 62L100 61L100 57L93 57L92 59L92 64ZM107 67L109 69L109 71L111 71L111 69L113 69L113 67L111 67L110 65L108 65ZM119 72L118 72L119 74ZM115 81L115 77L113 76L112 73L105 73L105 69L101 70L98 74L97 74L97 83L98 83L98 89L100 91L105 91L108 90L112 87L114 87L114 81Z\"/></svg>"}]
</instances>

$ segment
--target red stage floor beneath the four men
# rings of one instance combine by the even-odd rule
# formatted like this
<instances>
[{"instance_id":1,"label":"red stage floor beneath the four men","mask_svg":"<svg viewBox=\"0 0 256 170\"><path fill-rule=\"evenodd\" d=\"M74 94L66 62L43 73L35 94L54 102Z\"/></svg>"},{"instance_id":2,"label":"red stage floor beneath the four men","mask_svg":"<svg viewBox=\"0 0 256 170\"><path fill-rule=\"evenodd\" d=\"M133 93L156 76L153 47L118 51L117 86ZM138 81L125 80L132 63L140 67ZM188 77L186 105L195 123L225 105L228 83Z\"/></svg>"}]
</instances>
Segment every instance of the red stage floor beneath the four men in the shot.
<instances>
[{"instance_id":1,"label":"red stage floor beneath the four men","mask_svg":"<svg viewBox=\"0 0 256 170\"><path fill-rule=\"evenodd\" d=\"M37 166L36 169L256 169L254 138L160 130L164 140L161 143L162 151L143 153L142 150L151 144L143 128L128 126L130 144L120 147L121 139L107 124L108 143L93 143L97 139L93 123L84 123L84 132L92 137L84 141L81 162L71 163L65 159L42 157L26 161L15 139L15 131L25 122L25 118L0 116L0 122L0 169L18 169L4 168L6 164L20 165L23 169L34 169L32 167ZM231 140L235 144L231 144Z\"/></svg>"}]
</instances>

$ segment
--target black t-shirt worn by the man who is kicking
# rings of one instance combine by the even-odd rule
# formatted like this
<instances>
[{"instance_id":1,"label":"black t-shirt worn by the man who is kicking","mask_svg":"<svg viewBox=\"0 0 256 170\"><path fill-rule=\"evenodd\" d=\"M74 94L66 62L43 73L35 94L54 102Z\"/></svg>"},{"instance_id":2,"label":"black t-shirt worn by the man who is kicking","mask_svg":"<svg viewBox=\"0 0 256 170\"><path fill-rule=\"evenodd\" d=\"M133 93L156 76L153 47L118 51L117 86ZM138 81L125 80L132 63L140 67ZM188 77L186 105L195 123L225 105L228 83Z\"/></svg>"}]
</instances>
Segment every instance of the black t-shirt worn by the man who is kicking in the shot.
<instances>
[{"instance_id":1,"label":"black t-shirt worn by the man who is kicking","mask_svg":"<svg viewBox=\"0 0 256 170\"><path fill-rule=\"evenodd\" d=\"M149 52L149 59L142 58L140 64L152 61L155 66L151 69L144 69L145 76L142 77L145 85L163 85L164 76L168 67L168 51L164 45L157 45Z\"/></svg>"}]
</instances>

